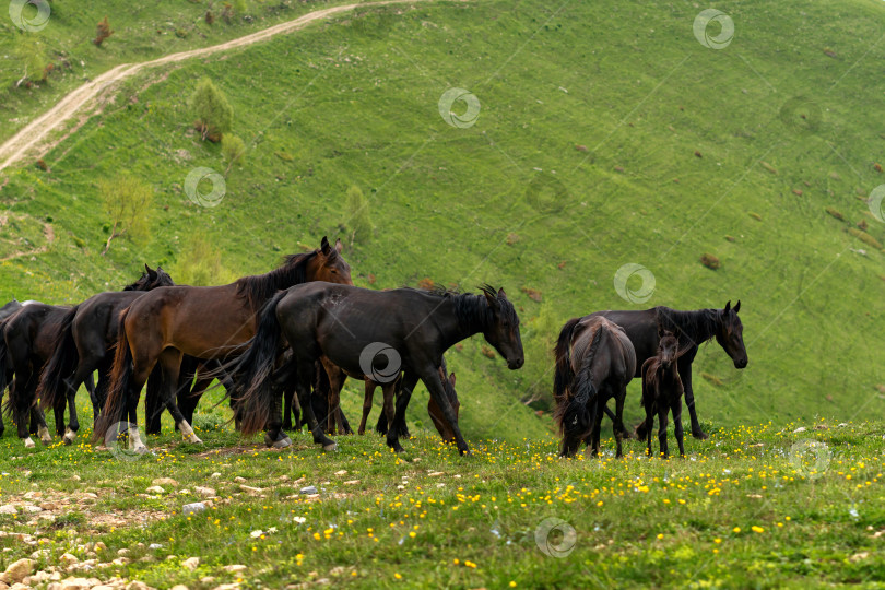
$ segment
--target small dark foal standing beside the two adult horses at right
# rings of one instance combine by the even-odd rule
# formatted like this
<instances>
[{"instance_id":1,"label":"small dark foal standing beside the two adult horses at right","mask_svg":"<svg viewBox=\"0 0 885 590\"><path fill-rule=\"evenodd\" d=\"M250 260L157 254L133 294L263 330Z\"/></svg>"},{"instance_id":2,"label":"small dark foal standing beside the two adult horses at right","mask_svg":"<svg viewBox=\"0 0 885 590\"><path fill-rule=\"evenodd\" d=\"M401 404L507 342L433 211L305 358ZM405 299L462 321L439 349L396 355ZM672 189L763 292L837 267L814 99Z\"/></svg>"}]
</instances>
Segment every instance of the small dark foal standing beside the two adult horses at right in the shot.
<instances>
[{"instance_id":1,"label":"small dark foal standing beside the two adult horses at right","mask_svg":"<svg viewBox=\"0 0 885 590\"><path fill-rule=\"evenodd\" d=\"M661 456L669 457L666 448L666 414L673 411L673 430L680 445L680 457L685 457L682 439L682 379L676 368L680 342L673 332L663 331L658 342L658 354L642 363L642 405L646 408L646 442L651 457L651 425L658 414L658 444Z\"/></svg>"}]
</instances>

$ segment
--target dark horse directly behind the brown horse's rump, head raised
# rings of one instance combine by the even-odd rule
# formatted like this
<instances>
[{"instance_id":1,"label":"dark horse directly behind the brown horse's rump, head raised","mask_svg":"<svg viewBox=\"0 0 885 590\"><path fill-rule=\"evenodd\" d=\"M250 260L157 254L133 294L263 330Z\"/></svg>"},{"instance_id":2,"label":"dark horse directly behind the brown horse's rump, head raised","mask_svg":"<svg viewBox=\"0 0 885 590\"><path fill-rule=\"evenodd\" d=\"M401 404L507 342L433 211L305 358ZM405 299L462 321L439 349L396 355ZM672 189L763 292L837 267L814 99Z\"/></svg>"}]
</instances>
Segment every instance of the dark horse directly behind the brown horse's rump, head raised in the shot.
<instances>
[{"instance_id":1,"label":"dark horse directly behind the brown horse's rump, head raised","mask_svg":"<svg viewBox=\"0 0 885 590\"><path fill-rule=\"evenodd\" d=\"M98 371L98 388L90 391L93 422L97 420L107 394L107 379L114 361L120 311L145 292L175 283L163 269L144 266L141 279L120 292L99 293L69 309L61 318L52 343L52 355L40 376L37 397L40 406L56 409L56 430L64 435L66 445L73 442L80 422L74 398L80 385ZM68 400L70 424L64 425L64 400Z\"/></svg>"}]
</instances>

